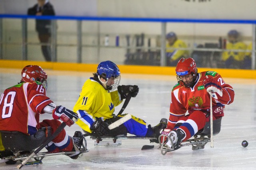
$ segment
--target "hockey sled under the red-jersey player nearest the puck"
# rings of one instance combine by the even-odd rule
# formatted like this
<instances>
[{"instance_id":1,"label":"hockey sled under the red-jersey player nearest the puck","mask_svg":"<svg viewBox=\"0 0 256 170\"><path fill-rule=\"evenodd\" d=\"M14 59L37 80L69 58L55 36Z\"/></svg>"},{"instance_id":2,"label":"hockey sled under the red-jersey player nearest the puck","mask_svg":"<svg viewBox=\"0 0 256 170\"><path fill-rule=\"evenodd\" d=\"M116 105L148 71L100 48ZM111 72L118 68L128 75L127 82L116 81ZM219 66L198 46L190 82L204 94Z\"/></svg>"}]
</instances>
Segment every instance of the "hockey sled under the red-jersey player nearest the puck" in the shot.
<instances>
[{"instance_id":1,"label":"hockey sled under the red-jersey player nearest the puck","mask_svg":"<svg viewBox=\"0 0 256 170\"><path fill-rule=\"evenodd\" d=\"M220 133L220 126L221 126L221 119L216 119L213 121L213 135L217 135ZM178 147L174 148L173 142L167 135L160 135L158 138L160 146L158 146L158 149L161 150L161 153L165 155L167 152L180 149L181 147L192 145L192 150L198 150L198 149L204 149L204 146L206 143L211 141L211 131L210 131L210 121L206 122L203 129L199 130L195 135L194 139L188 139L187 141L182 142ZM163 142L161 143L161 137L163 137ZM172 148L166 147L164 145L165 138L171 141Z\"/></svg>"}]
</instances>

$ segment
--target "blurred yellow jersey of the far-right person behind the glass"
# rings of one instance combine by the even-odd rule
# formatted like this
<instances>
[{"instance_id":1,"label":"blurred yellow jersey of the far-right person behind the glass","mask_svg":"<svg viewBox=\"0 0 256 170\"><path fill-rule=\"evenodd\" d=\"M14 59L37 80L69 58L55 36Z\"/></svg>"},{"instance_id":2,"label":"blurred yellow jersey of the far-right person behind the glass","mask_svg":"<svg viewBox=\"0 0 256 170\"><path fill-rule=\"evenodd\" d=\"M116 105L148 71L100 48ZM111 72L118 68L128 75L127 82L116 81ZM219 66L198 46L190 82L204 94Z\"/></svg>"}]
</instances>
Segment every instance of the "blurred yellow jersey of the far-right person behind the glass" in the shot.
<instances>
[{"instance_id":1,"label":"blurred yellow jersey of the far-right person behind the glass","mask_svg":"<svg viewBox=\"0 0 256 170\"><path fill-rule=\"evenodd\" d=\"M246 48L246 44L243 42L228 43L226 46L226 49L228 50L246 50ZM222 60L226 61L230 56L233 56L236 61L243 61L245 57L245 52L224 51L224 53L222 53Z\"/></svg>"}]
</instances>

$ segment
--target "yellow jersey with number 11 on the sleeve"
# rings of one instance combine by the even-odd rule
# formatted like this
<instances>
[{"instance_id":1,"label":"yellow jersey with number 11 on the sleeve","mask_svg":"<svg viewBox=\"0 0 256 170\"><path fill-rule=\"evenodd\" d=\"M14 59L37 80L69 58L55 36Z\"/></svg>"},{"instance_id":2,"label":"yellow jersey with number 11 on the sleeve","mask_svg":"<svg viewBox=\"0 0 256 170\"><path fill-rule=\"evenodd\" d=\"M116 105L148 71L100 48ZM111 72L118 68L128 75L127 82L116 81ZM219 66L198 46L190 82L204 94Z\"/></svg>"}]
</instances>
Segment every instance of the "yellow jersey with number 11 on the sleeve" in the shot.
<instances>
[{"instance_id":1,"label":"yellow jersey with number 11 on the sleeve","mask_svg":"<svg viewBox=\"0 0 256 170\"><path fill-rule=\"evenodd\" d=\"M91 125L96 120L95 117L105 119L112 118L115 106L122 103L118 91L109 92L99 82L93 78L86 80L80 96L73 108L78 114L76 123L84 130L92 133Z\"/></svg>"}]
</instances>

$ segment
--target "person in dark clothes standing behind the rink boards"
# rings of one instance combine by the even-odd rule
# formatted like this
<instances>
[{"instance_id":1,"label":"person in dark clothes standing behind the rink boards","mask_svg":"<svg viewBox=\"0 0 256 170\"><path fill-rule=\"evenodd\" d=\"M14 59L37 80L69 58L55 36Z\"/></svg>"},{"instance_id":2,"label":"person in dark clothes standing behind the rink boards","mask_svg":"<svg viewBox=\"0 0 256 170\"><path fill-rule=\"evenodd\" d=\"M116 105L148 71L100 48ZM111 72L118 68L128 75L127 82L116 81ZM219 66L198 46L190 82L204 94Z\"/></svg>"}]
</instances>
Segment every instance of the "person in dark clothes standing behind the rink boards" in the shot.
<instances>
[{"instance_id":1,"label":"person in dark clothes standing behind the rink boards","mask_svg":"<svg viewBox=\"0 0 256 170\"><path fill-rule=\"evenodd\" d=\"M28 9L28 15L36 16L54 16L55 12L52 4L49 0L37 0L38 3L32 8ZM51 48L50 45L45 43L50 43L51 40L51 20L36 20L36 31L38 32L38 38L42 44L41 49L46 61L51 61Z\"/></svg>"}]
</instances>

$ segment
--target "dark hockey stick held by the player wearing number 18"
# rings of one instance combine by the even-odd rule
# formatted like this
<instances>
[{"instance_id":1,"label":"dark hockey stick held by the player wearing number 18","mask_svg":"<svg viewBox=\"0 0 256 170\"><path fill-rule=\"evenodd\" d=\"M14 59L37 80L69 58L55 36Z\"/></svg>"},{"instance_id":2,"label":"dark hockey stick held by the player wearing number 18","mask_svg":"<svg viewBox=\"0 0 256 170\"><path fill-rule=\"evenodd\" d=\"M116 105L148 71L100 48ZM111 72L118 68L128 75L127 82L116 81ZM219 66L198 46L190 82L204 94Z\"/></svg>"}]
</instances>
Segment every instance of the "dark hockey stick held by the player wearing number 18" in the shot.
<instances>
[{"instance_id":1,"label":"dark hockey stick held by the player wearing number 18","mask_svg":"<svg viewBox=\"0 0 256 170\"><path fill-rule=\"evenodd\" d=\"M40 150L42 150L50 141L52 141L64 129L64 127L66 127L66 123L62 122L58 129L56 129L56 131L50 137L48 137L48 139L46 139L46 141L40 147L38 147L38 149L36 149L32 154L30 154L28 158L23 160L21 164L17 166L17 168L22 168L22 166L24 166L31 158L33 158L34 155L40 152Z\"/></svg>"}]
</instances>

